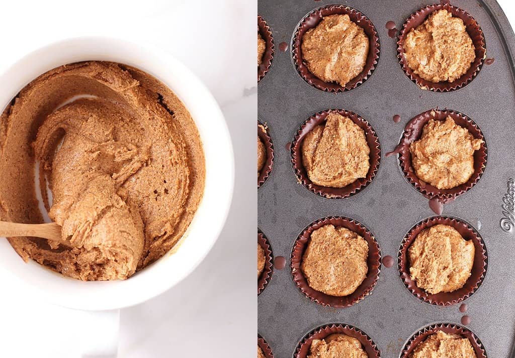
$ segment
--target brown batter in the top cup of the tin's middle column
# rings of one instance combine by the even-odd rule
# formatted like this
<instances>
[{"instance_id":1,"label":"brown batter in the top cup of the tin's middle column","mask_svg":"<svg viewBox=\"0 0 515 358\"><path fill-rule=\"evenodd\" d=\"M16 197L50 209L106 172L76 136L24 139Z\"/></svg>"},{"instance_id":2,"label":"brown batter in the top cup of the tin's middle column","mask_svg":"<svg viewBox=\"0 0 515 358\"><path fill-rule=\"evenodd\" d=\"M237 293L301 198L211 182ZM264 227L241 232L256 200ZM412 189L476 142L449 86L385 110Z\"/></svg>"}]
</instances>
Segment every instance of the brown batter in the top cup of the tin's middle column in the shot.
<instances>
[{"instance_id":1,"label":"brown batter in the top cup of the tin's middle column","mask_svg":"<svg viewBox=\"0 0 515 358\"><path fill-rule=\"evenodd\" d=\"M324 82L347 82L361 74L369 40L349 15L329 15L302 37L302 59L313 75Z\"/></svg>"}]
</instances>

